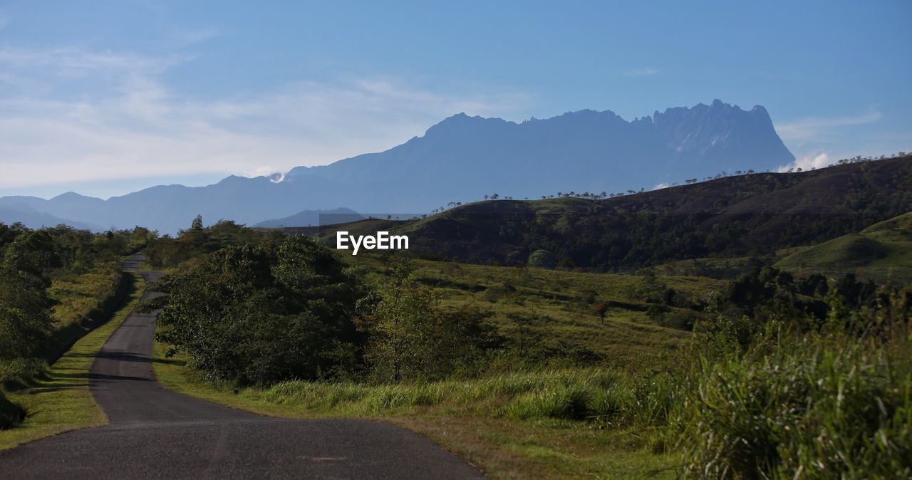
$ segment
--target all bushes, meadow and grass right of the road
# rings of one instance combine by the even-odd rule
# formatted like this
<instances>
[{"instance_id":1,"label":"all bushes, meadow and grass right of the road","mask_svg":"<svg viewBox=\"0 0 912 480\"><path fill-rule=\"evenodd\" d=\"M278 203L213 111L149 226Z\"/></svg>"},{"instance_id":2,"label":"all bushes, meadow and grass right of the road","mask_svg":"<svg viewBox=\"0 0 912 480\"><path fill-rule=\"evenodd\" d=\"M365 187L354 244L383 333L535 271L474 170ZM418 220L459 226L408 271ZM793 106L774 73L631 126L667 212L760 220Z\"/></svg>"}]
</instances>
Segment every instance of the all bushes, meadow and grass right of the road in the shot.
<instances>
[{"instance_id":1,"label":"all bushes, meadow and grass right of the road","mask_svg":"<svg viewBox=\"0 0 912 480\"><path fill-rule=\"evenodd\" d=\"M154 368L254 412L401 424L493 477L912 474L912 290L747 270L595 274L267 239L155 287L170 297ZM194 305L203 292L217 299Z\"/></svg>"}]
</instances>

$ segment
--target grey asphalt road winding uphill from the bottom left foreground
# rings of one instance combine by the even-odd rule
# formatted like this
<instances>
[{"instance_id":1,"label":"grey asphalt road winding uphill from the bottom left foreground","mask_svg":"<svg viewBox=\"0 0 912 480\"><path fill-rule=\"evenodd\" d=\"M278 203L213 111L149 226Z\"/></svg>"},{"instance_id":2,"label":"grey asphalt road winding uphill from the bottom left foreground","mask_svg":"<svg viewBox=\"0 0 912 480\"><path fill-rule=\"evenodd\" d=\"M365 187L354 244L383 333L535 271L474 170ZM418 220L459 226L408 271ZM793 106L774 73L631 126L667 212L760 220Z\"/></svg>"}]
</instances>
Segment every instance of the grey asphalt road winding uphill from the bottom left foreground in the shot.
<instances>
[{"instance_id":1,"label":"grey asphalt road winding uphill from the bottom left foreground","mask_svg":"<svg viewBox=\"0 0 912 480\"><path fill-rule=\"evenodd\" d=\"M166 390L152 375L154 321L131 313L92 365L89 388L110 424L0 452L0 478L483 478L391 424L277 419Z\"/></svg>"}]
</instances>

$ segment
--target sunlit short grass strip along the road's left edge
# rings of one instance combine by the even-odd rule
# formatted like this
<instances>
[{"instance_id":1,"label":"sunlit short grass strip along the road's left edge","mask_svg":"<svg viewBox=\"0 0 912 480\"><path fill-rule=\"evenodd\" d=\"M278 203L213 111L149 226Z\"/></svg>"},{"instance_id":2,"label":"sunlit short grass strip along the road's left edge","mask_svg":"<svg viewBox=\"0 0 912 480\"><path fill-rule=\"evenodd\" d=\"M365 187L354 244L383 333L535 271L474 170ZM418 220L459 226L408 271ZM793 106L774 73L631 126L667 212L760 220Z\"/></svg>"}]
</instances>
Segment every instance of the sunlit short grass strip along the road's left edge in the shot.
<instances>
[{"instance_id":1,"label":"sunlit short grass strip along the road's left edge","mask_svg":"<svg viewBox=\"0 0 912 480\"><path fill-rule=\"evenodd\" d=\"M27 414L22 424L0 430L0 450L70 430L107 424L105 414L88 390L88 371L101 346L140 299L142 278L138 274L131 274L131 277L129 300L108 322L74 343L27 388L6 393L7 398L23 406Z\"/></svg>"}]
</instances>

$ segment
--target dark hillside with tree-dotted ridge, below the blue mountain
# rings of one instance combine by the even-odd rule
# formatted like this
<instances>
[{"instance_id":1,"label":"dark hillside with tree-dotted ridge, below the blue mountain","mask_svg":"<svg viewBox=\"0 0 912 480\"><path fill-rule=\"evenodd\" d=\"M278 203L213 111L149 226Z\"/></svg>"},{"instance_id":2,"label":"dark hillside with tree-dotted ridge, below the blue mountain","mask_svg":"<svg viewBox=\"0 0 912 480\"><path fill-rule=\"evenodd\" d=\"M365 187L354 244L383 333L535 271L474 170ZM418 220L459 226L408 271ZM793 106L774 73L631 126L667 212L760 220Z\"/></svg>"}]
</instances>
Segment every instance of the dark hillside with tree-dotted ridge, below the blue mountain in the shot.
<instances>
[{"instance_id":1,"label":"dark hillside with tree-dotted ridge, below the blue mountain","mask_svg":"<svg viewBox=\"0 0 912 480\"><path fill-rule=\"evenodd\" d=\"M856 232L912 210L912 157L797 173L754 173L613 199L476 202L421 220L324 229L409 235L428 258L636 270L675 260L772 255ZM295 232L316 234L316 229Z\"/></svg>"}]
</instances>

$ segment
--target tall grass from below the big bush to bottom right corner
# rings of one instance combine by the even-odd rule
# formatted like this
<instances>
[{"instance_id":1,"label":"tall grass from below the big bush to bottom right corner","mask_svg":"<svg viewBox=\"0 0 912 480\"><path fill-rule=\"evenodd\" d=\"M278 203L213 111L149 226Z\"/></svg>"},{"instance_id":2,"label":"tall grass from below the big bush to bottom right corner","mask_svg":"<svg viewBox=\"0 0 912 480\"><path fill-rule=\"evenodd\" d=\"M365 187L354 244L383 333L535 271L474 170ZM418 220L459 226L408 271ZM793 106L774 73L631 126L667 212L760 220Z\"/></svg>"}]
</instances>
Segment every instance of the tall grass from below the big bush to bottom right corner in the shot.
<instances>
[{"instance_id":1,"label":"tall grass from below the big bush to bottom right corner","mask_svg":"<svg viewBox=\"0 0 912 480\"><path fill-rule=\"evenodd\" d=\"M912 362L904 342L782 337L649 377L606 369L434 383L285 382L242 397L311 414L429 412L613 428L706 478L912 476Z\"/></svg>"}]
</instances>

